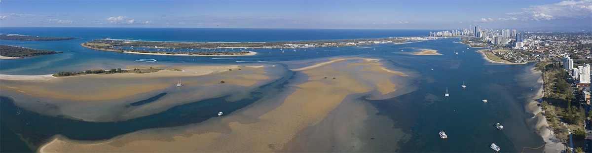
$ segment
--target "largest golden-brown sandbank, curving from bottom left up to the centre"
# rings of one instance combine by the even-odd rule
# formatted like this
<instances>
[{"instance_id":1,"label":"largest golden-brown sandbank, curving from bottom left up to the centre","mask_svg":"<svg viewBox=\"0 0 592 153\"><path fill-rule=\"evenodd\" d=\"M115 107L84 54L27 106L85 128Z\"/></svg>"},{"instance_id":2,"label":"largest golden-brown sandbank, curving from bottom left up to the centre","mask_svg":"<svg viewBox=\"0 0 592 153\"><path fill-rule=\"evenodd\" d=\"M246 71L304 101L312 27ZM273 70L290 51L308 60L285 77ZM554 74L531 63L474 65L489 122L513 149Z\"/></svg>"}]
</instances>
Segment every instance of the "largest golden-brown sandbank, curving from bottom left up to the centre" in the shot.
<instances>
[{"instance_id":1,"label":"largest golden-brown sandbank, curving from bottom left up to the centre","mask_svg":"<svg viewBox=\"0 0 592 153\"><path fill-rule=\"evenodd\" d=\"M337 61L335 61L337 60ZM368 60L332 59L333 62L307 66L300 72L308 81L289 84L294 92L278 107L253 112L246 107L229 116L213 118L197 125L147 129L105 141L72 141L55 138L40 152L277 152L291 143L306 127L317 125L348 95L395 90L392 72L382 66L349 66L348 63L373 63ZM339 61L339 62L338 62ZM375 68L372 68L376 66ZM326 78L325 78L326 77ZM373 79L362 79L374 77ZM393 76L400 77L400 76ZM335 79L333 79L335 78ZM296 79L298 80L298 79ZM380 86L383 85L383 86ZM400 87L401 88L401 87ZM255 116L249 116L255 115ZM252 118L250 122L240 119ZM331 132L327 132L331 133Z\"/></svg>"}]
</instances>

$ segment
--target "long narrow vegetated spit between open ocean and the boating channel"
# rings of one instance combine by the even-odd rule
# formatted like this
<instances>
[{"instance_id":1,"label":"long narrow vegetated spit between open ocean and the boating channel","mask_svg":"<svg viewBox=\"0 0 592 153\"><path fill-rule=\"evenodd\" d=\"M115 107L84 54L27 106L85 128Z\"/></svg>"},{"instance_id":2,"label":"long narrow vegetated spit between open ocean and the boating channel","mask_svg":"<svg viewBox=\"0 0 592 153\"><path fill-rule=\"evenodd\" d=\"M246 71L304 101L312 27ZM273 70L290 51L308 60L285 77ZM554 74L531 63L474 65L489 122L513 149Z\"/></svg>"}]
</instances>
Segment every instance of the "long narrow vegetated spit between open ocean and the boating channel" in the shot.
<instances>
[{"instance_id":1,"label":"long narrow vegetated spit between open ocean and the boating channel","mask_svg":"<svg viewBox=\"0 0 592 153\"><path fill-rule=\"evenodd\" d=\"M341 47L366 44L401 43L415 38L388 37L379 39L348 39L348 40L303 40L283 42L156 42L140 40L98 39L84 42L81 46L109 52L139 53L150 55L182 55L182 56L241 56L255 55L249 51L180 51L166 52L164 49L217 49L217 48L279 48L296 49L311 47ZM147 50L157 49L157 50ZM162 51L160 49L163 49Z\"/></svg>"}]
</instances>

